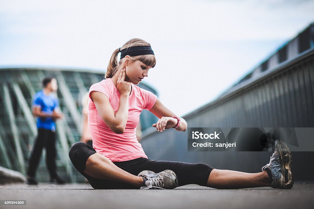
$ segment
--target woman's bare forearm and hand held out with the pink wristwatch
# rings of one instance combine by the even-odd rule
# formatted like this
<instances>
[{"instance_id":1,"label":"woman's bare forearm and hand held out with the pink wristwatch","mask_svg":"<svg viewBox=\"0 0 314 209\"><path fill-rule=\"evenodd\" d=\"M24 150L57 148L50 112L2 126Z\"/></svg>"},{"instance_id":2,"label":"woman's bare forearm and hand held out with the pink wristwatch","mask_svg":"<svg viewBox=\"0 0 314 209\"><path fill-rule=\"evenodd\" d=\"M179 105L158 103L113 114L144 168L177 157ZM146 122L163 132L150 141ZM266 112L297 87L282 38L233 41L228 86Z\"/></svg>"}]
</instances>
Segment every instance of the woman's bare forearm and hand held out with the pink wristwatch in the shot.
<instances>
[{"instance_id":1,"label":"woman's bare forearm and hand held out with the pink wristwatch","mask_svg":"<svg viewBox=\"0 0 314 209\"><path fill-rule=\"evenodd\" d=\"M156 115L158 118L160 118L157 123L153 124L153 127L156 127L157 131L162 132L165 129L172 128L176 126L178 123L178 120L176 118L173 118L172 116L176 116L171 110L166 108L159 99L155 102L152 109L150 109L154 115ZM177 116L178 117L178 116ZM180 117L178 117L180 118ZM180 125L178 128L175 128L177 131L186 131L187 130L187 122L180 118Z\"/></svg>"}]
</instances>

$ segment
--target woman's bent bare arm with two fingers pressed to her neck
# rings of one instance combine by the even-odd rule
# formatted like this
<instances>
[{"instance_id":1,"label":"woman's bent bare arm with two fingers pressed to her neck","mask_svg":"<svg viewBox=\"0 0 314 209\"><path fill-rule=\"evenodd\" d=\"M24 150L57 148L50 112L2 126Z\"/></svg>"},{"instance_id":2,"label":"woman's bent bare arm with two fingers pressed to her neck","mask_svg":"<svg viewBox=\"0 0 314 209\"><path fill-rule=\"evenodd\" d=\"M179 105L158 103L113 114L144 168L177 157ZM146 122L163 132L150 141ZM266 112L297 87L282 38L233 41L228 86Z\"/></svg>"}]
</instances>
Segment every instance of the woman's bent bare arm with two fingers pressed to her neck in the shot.
<instances>
[{"instance_id":1,"label":"woman's bent bare arm with two fingers pressed to her neck","mask_svg":"<svg viewBox=\"0 0 314 209\"><path fill-rule=\"evenodd\" d=\"M98 91L92 91L90 93L90 98L94 102L100 117L116 134L124 133L125 126L127 125L131 83L124 80L125 69L123 69L123 71L121 70L117 81L117 89L120 92L120 102L116 113L109 102L109 98L105 94Z\"/></svg>"}]
</instances>

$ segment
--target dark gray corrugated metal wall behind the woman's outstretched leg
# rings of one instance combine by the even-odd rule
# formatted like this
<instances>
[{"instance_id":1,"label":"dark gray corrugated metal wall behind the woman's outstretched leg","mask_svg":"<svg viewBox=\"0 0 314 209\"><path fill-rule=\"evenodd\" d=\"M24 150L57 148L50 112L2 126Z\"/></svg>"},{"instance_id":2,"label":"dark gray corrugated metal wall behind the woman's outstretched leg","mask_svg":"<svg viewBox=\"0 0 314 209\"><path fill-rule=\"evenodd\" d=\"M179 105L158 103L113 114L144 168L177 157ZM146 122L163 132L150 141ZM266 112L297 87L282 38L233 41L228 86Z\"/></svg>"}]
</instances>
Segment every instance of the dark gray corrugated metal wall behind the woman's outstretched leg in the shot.
<instances>
[{"instance_id":1,"label":"dark gray corrugated metal wall behind the woman's outstretched leg","mask_svg":"<svg viewBox=\"0 0 314 209\"><path fill-rule=\"evenodd\" d=\"M313 88L312 48L183 118L189 127L314 127ZM249 173L259 172L272 154L187 152L187 131L173 129L147 132L142 146L150 159L207 163ZM293 157L295 179L314 180L314 152L294 152Z\"/></svg>"}]
</instances>

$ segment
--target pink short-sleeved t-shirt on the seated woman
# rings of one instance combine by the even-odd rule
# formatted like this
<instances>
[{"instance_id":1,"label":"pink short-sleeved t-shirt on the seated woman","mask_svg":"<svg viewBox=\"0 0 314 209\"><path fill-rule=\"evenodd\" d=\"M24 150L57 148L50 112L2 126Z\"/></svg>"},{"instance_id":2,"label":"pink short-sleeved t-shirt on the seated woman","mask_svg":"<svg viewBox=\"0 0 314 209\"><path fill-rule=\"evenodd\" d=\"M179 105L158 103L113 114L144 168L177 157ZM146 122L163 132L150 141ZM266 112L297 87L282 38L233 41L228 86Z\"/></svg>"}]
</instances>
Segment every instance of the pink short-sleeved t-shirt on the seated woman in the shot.
<instances>
[{"instance_id":1,"label":"pink short-sleeved t-shirt on the seated woman","mask_svg":"<svg viewBox=\"0 0 314 209\"><path fill-rule=\"evenodd\" d=\"M120 92L113 84L111 78L93 84L89 88L89 130L92 135L93 147L96 152L109 158L112 162L147 158L142 145L138 143L135 132L139 121L139 115L143 109L150 110L157 96L138 86L132 85L129 96L129 113L127 125L123 134L114 133L101 119L94 102L90 99L90 92L99 91L105 94L115 112L118 111Z\"/></svg>"}]
</instances>

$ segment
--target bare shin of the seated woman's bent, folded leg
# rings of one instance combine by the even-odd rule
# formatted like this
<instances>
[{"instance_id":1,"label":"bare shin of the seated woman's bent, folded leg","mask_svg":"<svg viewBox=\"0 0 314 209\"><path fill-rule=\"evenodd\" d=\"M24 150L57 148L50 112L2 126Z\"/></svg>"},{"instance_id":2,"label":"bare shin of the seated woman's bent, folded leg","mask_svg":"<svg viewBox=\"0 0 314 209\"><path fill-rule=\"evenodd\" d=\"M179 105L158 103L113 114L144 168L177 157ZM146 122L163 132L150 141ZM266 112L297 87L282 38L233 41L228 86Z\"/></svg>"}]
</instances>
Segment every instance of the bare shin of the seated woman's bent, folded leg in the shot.
<instances>
[{"instance_id":1,"label":"bare shin of the seated woman's bent, folded leg","mask_svg":"<svg viewBox=\"0 0 314 209\"><path fill-rule=\"evenodd\" d=\"M99 153L89 156L84 172L97 179L113 180L138 187L143 186L142 177L135 176L120 169L108 158Z\"/></svg>"}]
</instances>

